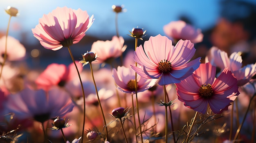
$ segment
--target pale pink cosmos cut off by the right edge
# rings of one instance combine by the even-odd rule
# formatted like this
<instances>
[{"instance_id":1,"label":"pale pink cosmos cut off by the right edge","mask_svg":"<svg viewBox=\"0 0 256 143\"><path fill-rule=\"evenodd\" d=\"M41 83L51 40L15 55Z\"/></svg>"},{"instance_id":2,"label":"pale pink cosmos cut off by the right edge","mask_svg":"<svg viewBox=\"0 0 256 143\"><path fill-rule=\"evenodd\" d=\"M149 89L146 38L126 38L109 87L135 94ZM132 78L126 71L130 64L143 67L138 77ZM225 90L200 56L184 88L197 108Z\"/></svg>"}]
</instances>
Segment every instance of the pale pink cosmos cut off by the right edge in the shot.
<instances>
[{"instance_id":1,"label":"pale pink cosmos cut off by the right edge","mask_svg":"<svg viewBox=\"0 0 256 143\"><path fill-rule=\"evenodd\" d=\"M256 63L248 64L244 67L242 57L237 53L232 53L229 57L225 51L221 51L213 46L206 57L206 62L217 66L221 70L229 68L238 80L238 86L243 86L256 74Z\"/></svg>"}]
</instances>

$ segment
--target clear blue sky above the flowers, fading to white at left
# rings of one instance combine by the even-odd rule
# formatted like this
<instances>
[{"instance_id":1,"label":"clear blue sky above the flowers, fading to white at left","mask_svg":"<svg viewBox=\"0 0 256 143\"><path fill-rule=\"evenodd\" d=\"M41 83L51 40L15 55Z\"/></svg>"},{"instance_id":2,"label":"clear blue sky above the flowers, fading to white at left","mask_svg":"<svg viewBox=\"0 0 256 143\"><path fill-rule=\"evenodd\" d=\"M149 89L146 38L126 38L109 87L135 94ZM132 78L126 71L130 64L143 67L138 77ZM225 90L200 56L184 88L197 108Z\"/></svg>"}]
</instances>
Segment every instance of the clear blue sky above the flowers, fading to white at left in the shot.
<instances>
[{"instance_id":1,"label":"clear blue sky above the flowers, fading to white at left","mask_svg":"<svg viewBox=\"0 0 256 143\"><path fill-rule=\"evenodd\" d=\"M133 27L144 28L152 35L162 34L163 26L178 20L180 15L186 15L200 29L207 29L216 23L219 17L220 0L1 0L0 31L5 32L9 15L4 12L7 6L19 9L20 15L11 19L9 35L21 38L21 33L27 33L30 42L33 38L31 29L38 24L38 19L51 12L56 7L81 8L89 15L94 15L95 21L87 34L103 37L115 35L115 13L111 6L124 5L125 13L118 18L119 32L126 36ZM17 26L19 28L14 28Z\"/></svg>"}]
</instances>

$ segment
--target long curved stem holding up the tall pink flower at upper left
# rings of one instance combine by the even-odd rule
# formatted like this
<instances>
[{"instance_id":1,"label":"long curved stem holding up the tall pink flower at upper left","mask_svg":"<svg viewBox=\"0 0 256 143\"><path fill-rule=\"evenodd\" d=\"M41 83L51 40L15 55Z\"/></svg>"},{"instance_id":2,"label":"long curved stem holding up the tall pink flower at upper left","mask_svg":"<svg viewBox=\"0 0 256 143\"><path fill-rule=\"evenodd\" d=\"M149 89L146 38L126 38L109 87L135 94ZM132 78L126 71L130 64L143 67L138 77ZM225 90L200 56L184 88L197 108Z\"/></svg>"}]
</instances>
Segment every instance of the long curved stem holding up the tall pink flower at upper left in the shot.
<instances>
[{"instance_id":1,"label":"long curved stem holding up the tall pink flower at upper left","mask_svg":"<svg viewBox=\"0 0 256 143\"><path fill-rule=\"evenodd\" d=\"M83 132L84 132L84 128L85 128L84 127L85 126L85 93L84 93L84 89L83 89L83 82L82 82L79 70L78 70L78 68L76 66L76 62L74 60L73 54L72 54L72 52L70 50L70 47L68 46L67 49L68 49L68 52L70 53L70 57L71 57L74 65L76 67L76 71L77 71L77 74L78 74L78 77L79 77L79 80L80 80L80 85L81 85L81 88L82 88L82 93L83 93ZM83 132L82 132L81 143L83 143Z\"/></svg>"}]
</instances>

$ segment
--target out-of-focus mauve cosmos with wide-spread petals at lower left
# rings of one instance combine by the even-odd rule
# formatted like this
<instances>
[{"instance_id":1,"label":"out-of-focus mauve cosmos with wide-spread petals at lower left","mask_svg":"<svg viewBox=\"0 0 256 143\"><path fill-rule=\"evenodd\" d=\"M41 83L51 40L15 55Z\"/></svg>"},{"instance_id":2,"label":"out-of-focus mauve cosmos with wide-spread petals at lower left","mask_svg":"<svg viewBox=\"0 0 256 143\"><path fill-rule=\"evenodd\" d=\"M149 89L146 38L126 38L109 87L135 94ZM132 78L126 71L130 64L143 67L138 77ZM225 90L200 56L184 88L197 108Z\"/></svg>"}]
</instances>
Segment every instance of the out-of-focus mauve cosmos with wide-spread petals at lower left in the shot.
<instances>
[{"instance_id":1,"label":"out-of-focus mauve cosmos with wide-spread petals at lower left","mask_svg":"<svg viewBox=\"0 0 256 143\"><path fill-rule=\"evenodd\" d=\"M5 106L18 119L34 119L43 123L58 116L63 117L72 111L74 104L69 94L59 88L53 88L49 92L25 88L9 95Z\"/></svg>"}]
</instances>

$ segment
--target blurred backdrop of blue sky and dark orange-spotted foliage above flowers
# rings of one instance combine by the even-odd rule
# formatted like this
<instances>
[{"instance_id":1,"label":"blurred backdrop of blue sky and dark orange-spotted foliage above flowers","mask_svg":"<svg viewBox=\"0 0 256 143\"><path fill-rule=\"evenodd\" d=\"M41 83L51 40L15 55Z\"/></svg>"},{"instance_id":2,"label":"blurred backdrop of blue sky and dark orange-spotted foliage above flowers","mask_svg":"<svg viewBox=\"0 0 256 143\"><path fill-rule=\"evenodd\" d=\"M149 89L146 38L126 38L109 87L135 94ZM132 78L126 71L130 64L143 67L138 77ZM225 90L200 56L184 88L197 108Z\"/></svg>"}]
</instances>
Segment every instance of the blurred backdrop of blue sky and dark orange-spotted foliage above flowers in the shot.
<instances>
[{"instance_id":1,"label":"blurred backdrop of blue sky and dark orange-spotted foliage above flowers","mask_svg":"<svg viewBox=\"0 0 256 143\"><path fill-rule=\"evenodd\" d=\"M245 55L255 49L251 45L256 33L255 0L0 0L0 3L0 35L5 35L9 20L4 9L11 6L19 10L19 16L11 19L9 35L26 47L26 61L31 68L45 68L51 63L70 64L67 49L47 50L31 32L43 14L64 6L86 10L95 18L83 40L71 46L76 60L90 51L93 42L111 40L116 35L116 13L112 5L123 7L124 12L118 14L118 29L128 45L127 51L134 49L134 39L127 35L132 28L138 26L146 30L147 36L139 40L139 44L143 44L150 36L165 35L163 26L176 20L184 20L202 30L204 40L195 44L195 48L200 49L195 56L204 57L211 46L218 46L227 53L243 51ZM35 51L39 54L34 54ZM248 60L255 59L249 57Z\"/></svg>"}]
</instances>

